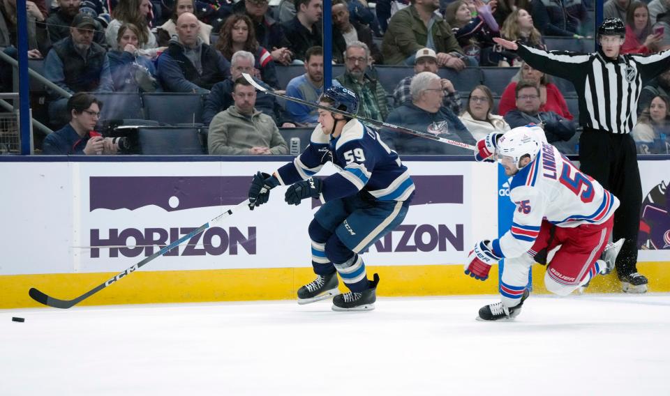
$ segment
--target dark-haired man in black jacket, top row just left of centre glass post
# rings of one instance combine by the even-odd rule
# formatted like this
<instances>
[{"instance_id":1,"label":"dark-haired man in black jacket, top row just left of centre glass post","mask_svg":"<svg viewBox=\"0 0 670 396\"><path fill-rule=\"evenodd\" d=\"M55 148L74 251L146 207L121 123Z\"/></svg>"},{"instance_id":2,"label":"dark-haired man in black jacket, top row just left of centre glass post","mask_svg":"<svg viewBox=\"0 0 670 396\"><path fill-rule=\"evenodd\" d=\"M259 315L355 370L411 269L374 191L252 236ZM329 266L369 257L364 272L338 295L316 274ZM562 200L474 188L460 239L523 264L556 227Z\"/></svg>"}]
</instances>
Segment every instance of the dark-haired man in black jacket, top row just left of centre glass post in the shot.
<instances>
[{"instance_id":1,"label":"dark-haired man in black jacket, top row just left of centre glass post","mask_svg":"<svg viewBox=\"0 0 670 396\"><path fill-rule=\"evenodd\" d=\"M281 24L294 61L304 61L310 47L322 44L322 6L322 0L295 0L295 18Z\"/></svg>"}]
</instances>

